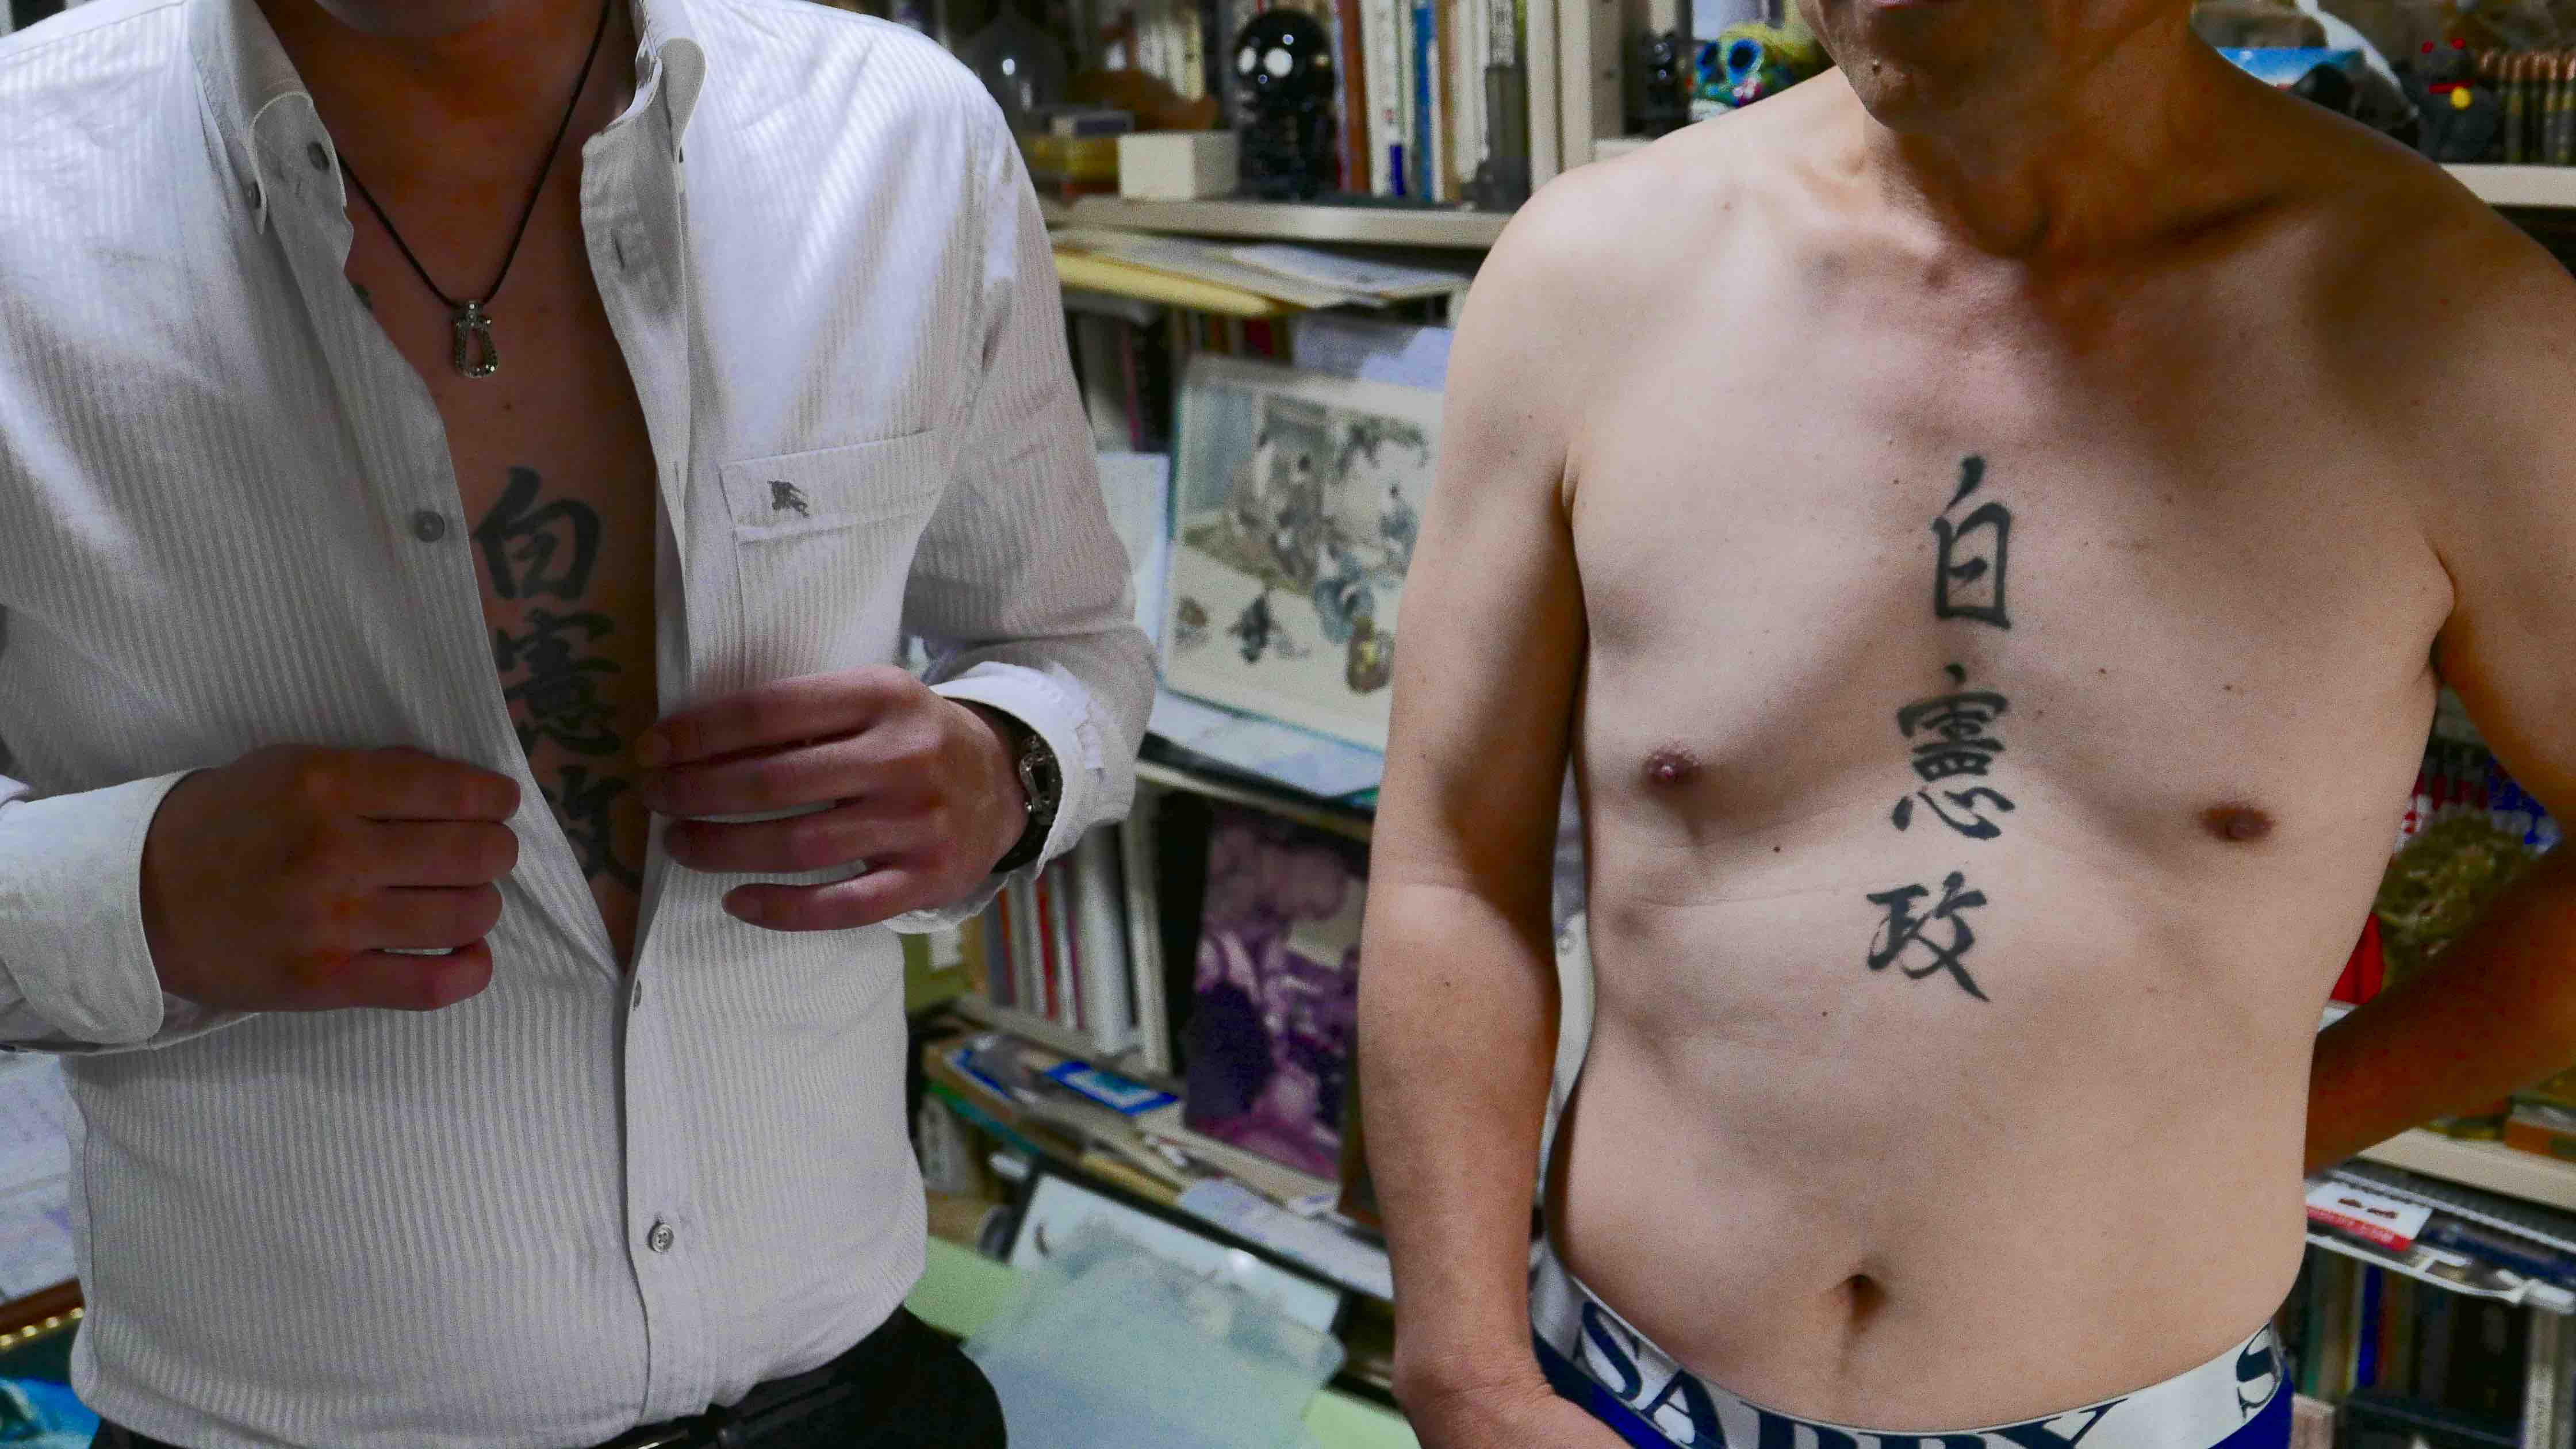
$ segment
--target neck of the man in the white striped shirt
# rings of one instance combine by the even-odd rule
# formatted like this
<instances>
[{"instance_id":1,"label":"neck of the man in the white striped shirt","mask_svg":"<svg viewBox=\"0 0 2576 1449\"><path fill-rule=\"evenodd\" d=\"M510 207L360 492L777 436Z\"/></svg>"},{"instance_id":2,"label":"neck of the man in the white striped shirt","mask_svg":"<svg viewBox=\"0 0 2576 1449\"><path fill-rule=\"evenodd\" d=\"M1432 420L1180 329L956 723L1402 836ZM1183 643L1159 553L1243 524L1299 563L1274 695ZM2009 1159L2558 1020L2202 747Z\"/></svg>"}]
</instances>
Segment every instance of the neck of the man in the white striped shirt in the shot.
<instances>
[{"instance_id":1,"label":"neck of the man in the white striped shirt","mask_svg":"<svg viewBox=\"0 0 2576 1449\"><path fill-rule=\"evenodd\" d=\"M330 8L325 8L330 3ZM376 193L415 186L526 188L611 0L502 0L440 34L358 28L345 15L412 13L376 0L258 0L340 155ZM428 5L422 5L428 10ZM605 116L634 90L634 28L613 3L580 111ZM605 116L600 116L605 121ZM598 124L582 126L587 137Z\"/></svg>"}]
</instances>

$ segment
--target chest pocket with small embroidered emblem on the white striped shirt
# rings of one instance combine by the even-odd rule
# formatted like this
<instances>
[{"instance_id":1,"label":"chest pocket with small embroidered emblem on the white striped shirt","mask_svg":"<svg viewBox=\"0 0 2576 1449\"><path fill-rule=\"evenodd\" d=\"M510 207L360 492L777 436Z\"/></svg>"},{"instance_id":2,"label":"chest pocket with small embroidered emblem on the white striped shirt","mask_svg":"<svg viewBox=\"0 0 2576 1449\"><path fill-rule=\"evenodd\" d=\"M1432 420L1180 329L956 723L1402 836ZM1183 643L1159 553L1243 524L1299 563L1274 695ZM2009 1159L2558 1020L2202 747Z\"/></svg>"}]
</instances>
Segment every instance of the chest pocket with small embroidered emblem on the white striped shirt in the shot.
<instances>
[{"instance_id":1,"label":"chest pocket with small embroidered emblem on the white striped shirt","mask_svg":"<svg viewBox=\"0 0 2576 1449\"><path fill-rule=\"evenodd\" d=\"M940 433L724 464L742 645L770 678L889 663L948 487Z\"/></svg>"}]
</instances>

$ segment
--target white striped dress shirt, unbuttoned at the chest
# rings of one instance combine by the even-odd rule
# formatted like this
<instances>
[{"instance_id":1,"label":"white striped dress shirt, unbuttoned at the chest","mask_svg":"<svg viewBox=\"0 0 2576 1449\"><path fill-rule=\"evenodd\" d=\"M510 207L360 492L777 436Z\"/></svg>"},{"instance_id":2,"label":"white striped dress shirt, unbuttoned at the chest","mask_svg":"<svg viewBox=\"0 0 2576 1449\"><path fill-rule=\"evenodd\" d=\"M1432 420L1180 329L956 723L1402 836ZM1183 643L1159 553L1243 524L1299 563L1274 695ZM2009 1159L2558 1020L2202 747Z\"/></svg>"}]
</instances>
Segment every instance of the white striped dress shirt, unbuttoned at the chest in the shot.
<instances>
[{"instance_id":1,"label":"white striped dress shirt, unbuttoned at the chest","mask_svg":"<svg viewBox=\"0 0 2576 1449\"><path fill-rule=\"evenodd\" d=\"M636 31L582 229L657 462L662 712L914 632L1054 745L1061 851L1126 810L1151 668L999 113L806 0L636 0ZM8 36L0 137L0 1042L72 1055L80 1392L206 1449L564 1446L866 1336L922 1266L899 944L734 920L760 877L672 869L657 820L621 977L258 8ZM811 513L775 526L770 480ZM520 781L487 993L160 993L152 815L276 743Z\"/></svg>"}]
</instances>

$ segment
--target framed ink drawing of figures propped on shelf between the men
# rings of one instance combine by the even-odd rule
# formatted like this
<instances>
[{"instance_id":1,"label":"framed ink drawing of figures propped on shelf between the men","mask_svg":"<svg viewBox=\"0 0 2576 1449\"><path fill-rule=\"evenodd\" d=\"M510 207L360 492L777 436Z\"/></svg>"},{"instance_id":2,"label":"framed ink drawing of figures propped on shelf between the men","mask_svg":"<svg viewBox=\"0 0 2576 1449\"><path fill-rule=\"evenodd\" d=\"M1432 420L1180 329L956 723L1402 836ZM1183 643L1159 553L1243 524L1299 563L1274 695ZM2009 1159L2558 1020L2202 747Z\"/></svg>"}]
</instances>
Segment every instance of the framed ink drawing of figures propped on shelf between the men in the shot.
<instances>
[{"instance_id":1,"label":"framed ink drawing of figures propped on shelf between the men","mask_svg":"<svg viewBox=\"0 0 2576 1449\"><path fill-rule=\"evenodd\" d=\"M1177 433L1164 683L1383 750L1440 392L1200 356Z\"/></svg>"}]
</instances>

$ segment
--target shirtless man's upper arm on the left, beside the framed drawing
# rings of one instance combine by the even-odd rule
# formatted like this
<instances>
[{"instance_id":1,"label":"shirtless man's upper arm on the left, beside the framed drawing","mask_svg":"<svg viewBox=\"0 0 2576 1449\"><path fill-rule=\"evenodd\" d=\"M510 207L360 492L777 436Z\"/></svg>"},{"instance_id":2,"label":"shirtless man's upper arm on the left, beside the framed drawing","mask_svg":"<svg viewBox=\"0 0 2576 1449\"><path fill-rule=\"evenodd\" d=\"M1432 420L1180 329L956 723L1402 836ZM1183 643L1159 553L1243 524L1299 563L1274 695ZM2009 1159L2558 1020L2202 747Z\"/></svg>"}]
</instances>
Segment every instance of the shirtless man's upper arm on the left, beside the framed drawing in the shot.
<instances>
[{"instance_id":1,"label":"shirtless man's upper arm on the left, beside the framed drawing","mask_svg":"<svg viewBox=\"0 0 2576 1449\"><path fill-rule=\"evenodd\" d=\"M1494 248L1450 348L1370 846L1381 882L1458 887L1538 920L1584 655L1564 500L1577 268L1558 253L1558 188Z\"/></svg>"}]
</instances>

